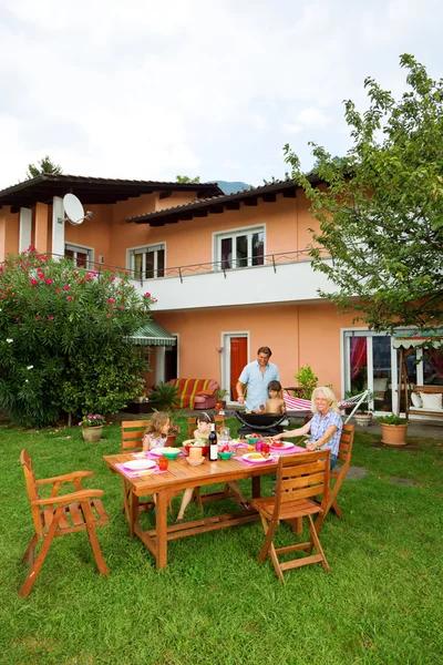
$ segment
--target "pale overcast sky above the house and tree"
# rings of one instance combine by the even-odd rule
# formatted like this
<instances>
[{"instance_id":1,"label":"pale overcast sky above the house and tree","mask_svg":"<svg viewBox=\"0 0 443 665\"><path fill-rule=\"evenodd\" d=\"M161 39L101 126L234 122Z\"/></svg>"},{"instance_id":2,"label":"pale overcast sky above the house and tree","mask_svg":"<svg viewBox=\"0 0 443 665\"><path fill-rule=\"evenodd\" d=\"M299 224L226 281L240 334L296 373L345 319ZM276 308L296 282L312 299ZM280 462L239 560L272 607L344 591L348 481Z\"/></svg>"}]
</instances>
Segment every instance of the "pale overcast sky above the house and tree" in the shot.
<instances>
[{"instance_id":1,"label":"pale overcast sky above the house and tree","mask_svg":"<svg viewBox=\"0 0 443 665\"><path fill-rule=\"evenodd\" d=\"M440 0L0 0L0 188L74 175L253 185L286 143L343 154L343 100L396 96L401 53L443 76Z\"/></svg>"}]
</instances>

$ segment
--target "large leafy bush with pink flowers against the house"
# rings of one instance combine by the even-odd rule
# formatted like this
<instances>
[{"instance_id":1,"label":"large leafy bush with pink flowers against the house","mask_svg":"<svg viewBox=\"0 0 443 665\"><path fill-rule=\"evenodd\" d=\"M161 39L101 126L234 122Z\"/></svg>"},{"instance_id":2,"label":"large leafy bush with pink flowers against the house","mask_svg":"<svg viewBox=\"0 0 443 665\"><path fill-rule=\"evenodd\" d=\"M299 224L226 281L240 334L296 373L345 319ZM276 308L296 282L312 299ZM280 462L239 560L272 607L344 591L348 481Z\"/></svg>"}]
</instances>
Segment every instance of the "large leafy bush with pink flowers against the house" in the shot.
<instances>
[{"instance_id":1,"label":"large leafy bush with pink flowers against the house","mask_svg":"<svg viewBox=\"0 0 443 665\"><path fill-rule=\"evenodd\" d=\"M33 248L0 266L0 409L19 424L115 413L141 395L146 362L128 337L148 316L125 273L75 268Z\"/></svg>"}]
</instances>

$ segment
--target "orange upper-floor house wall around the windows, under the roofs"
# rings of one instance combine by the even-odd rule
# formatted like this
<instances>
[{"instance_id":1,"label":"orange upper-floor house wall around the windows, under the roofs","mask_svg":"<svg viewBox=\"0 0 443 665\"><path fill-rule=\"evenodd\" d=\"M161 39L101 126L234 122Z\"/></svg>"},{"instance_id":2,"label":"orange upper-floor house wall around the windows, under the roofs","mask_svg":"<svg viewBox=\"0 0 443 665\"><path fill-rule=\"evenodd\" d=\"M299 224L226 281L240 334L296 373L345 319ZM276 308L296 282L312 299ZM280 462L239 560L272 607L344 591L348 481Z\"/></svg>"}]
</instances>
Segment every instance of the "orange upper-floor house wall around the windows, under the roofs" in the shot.
<instances>
[{"instance_id":1,"label":"orange upper-floor house wall around the windows, under the roofs","mask_svg":"<svg viewBox=\"0 0 443 665\"><path fill-rule=\"evenodd\" d=\"M65 223L64 239L93 248L95 259L102 255L105 264L119 267L126 267L127 248L166 243L167 268L212 263L215 259L214 234L247 226L265 225L266 254L302 250L310 242L307 228L315 222L309 215L309 203L300 192L297 198L284 198L280 194L276 203L259 201L257 206L251 207L240 204L238 211L209 214L178 224L151 227L147 224L126 223L131 216L189 203L196 193L176 192L163 200L158 198L158 193L154 193L116 204L85 205L93 212L92 219L76 227ZM19 215L6 214L4 254L16 253L19 250ZM32 242L41 252L51 252L52 205L37 204L32 217Z\"/></svg>"}]
</instances>

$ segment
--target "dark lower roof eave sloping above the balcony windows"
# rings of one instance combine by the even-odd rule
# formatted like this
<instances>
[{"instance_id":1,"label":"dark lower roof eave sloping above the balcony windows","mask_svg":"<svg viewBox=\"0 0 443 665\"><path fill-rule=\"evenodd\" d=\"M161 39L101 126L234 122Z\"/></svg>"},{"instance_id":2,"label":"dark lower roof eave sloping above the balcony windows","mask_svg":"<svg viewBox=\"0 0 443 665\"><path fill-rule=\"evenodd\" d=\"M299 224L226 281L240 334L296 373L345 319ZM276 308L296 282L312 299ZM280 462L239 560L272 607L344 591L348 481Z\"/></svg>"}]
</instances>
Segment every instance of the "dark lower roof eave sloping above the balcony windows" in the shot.
<instances>
[{"instance_id":1,"label":"dark lower roof eave sloping above the balcony windows","mask_svg":"<svg viewBox=\"0 0 443 665\"><path fill-rule=\"evenodd\" d=\"M308 178L312 185L322 182L317 174L311 174ZM259 198L267 203L274 203L277 200L277 194L282 194L287 198L296 198L298 188L299 186L292 180L277 181L269 185L251 187L250 190L236 192L235 194L222 194L199 201L196 200L192 203L165 208L156 213L128 217L126 222L128 224L164 226L165 224L175 224L181 221L193 219L194 217L206 217L209 213L220 214L225 209L238 211L241 203L245 206L256 206Z\"/></svg>"}]
</instances>

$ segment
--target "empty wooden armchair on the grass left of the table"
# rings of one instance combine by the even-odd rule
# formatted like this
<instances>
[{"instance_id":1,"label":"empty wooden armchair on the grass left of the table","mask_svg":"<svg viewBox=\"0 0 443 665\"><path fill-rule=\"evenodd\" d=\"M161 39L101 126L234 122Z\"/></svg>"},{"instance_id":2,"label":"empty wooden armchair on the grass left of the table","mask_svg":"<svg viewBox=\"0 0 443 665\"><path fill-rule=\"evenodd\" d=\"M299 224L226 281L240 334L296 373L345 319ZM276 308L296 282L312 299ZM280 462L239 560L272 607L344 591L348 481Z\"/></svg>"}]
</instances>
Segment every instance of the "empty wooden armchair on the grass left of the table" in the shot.
<instances>
[{"instance_id":1,"label":"empty wooden armchair on the grass left of the table","mask_svg":"<svg viewBox=\"0 0 443 665\"><path fill-rule=\"evenodd\" d=\"M97 569L102 575L109 575L110 571L103 559L95 533L97 526L104 526L110 521L100 501L103 491L83 490L81 487L82 479L93 475L92 471L74 471L64 475L37 480L32 460L27 450L21 451L20 462L24 471L34 523L34 534L22 559L29 561L29 574L19 591L20 595L28 595L31 591L47 557L52 539L76 531L87 533ZM59 489L65 482L73 482L75 491L59 497ZM52 484L51 494L48 499L40 499L39 497L39 487L43 484ZM39 541L41 548L37 559L34 559Z\"/></svg>"}]
</instances>

